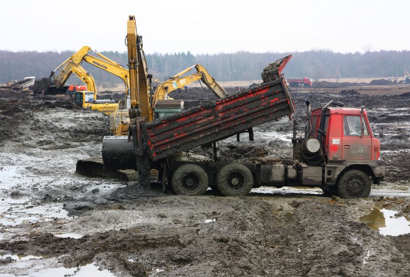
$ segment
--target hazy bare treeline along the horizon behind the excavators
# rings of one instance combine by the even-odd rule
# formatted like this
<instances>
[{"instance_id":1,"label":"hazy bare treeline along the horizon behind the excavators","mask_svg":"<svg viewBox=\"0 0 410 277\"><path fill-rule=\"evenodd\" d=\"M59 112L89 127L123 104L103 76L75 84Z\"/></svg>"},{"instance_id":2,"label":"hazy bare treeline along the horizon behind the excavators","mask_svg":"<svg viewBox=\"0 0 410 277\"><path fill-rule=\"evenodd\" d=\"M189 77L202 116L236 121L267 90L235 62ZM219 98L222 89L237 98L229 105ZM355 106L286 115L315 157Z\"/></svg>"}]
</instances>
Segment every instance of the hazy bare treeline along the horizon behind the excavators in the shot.
<instances>
[{"instance_id":1,"label":"hazy bare treeline along the horizon behind the excavators","mask_svg":"<svg viewBox=\"0 0 410 277\"><path fill-rule=\"evenodd\" d=\"M63 52L10 52L0 51L0 83L21 80L27 76L48 77L50 72L71 56L73 51ZM127 53L100 52L127 68ZM251 53L232 54L188 53L147 54L149 73L159 80L173 76L196 63L202 64L217 81L260 80L263 67L292 54L283 73L286 78L377 78L403 76L410 71L410 51L379 51L366 53L334 53L331 51L306 51L295 53ZM116 76L83 62L83 67L94 77L98 86L109 87L121 80ZM81 84L76 77L68 81Z\"/></svg>"}]
</instances>

